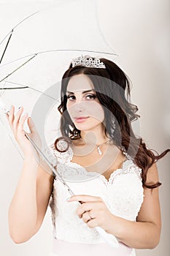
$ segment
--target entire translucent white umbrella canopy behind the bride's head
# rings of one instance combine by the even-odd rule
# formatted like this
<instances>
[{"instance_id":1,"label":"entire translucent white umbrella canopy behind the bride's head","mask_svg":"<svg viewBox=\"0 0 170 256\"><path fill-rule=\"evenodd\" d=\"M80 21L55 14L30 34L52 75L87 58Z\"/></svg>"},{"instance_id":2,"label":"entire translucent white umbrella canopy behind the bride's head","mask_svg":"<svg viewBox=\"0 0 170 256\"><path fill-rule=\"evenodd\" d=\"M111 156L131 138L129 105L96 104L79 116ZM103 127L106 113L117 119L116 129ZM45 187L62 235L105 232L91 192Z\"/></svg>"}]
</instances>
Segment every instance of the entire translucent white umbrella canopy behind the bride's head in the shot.
<instances>
[{"instance_id":1,"label":"entire translucent white umbrella canopy behind the bride's head","mask_svg":"<svg viewBox=\"0 0 170 256\"><path fill-rule=\"evenodd\" d=\"M60 80L70 61L81 54L117 56L98 24L96 1L72 0L32 12L1 36L1 97L30 115L43 98L45 111L50 110L43 124L49 140L59 126ZM1 116L1 121L6 120Z\"/></svg>"}]
</instances>

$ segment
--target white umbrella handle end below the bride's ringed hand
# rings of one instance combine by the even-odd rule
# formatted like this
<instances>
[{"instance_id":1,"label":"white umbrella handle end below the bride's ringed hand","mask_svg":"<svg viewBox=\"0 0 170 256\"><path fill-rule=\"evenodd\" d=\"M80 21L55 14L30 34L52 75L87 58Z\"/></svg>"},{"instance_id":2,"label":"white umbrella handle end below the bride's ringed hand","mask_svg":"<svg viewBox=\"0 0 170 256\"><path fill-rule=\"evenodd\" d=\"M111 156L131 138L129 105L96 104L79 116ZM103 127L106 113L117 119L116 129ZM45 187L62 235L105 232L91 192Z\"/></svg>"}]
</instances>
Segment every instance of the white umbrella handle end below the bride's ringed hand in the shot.
<instances>
[{"instance_id":1,"label":"white umbrella handle end below the bride's ringed hand","mask_svg":"<svg viewBox=\"0 0 170 256\"><path fill-rule=\"evenodd\" d=\"M109 246L112 246L113 248L117 248L119 246L119 242L117 241L117 238L113 236L112 234L107 233L103 228L101 227L95 227L101 238L106 241Z\"/></svg>"}]
</instances>

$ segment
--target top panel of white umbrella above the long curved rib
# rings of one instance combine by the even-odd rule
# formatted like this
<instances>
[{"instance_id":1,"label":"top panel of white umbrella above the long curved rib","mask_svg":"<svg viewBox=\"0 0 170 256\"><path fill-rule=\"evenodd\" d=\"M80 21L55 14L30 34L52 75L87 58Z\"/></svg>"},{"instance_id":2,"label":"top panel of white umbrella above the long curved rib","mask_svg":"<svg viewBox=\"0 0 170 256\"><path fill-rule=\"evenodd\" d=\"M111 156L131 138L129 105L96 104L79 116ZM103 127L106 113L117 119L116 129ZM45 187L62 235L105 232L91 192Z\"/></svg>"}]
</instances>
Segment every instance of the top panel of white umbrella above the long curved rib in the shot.
<instances>
[{"instance_id":1,"label":"top panel of white umbrella above the long curved rib","mask_svg":"<svg viewBox=\"0 0 170 256\"><path fill-rule=\"evenodd\" d=\"M95 1L63 1L32 13L12 29L4 64L12 59L56 49L114 53L98 25Z\"/></svg>"}]
</instances>

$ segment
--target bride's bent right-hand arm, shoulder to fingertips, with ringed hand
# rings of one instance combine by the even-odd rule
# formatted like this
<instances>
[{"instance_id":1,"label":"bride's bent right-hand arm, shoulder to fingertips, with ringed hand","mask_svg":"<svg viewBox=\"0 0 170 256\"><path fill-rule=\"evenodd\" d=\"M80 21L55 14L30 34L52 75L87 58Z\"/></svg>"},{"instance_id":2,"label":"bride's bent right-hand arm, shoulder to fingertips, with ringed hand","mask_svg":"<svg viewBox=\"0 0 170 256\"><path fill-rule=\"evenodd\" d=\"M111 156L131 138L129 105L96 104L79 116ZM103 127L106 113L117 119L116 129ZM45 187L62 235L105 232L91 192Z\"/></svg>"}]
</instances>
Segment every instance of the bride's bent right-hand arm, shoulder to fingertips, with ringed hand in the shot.
<instances>
[{"instance_id":1,"label":"bride's bent right-hand arm, shoulder to fingertips, with ringed hand","mask_svg":"<svg viewBox=\"0 0 170 256\"><path fill-rule=\"evenodd\" d=\"M153 164L147 172L147 184L157 181L158 170ZM107 233L111 233L124 244L136 249L153 249L158 245L161 235L158 188L144 189L144 202L140 208L137 222L111 214L101 197L77 195L71 197L69 201L73 200L85 202L77 209L77 214L89 227L102 227ZM89 219L87 211L94 215L93 219Z\"/></svg>"}]
</instances>

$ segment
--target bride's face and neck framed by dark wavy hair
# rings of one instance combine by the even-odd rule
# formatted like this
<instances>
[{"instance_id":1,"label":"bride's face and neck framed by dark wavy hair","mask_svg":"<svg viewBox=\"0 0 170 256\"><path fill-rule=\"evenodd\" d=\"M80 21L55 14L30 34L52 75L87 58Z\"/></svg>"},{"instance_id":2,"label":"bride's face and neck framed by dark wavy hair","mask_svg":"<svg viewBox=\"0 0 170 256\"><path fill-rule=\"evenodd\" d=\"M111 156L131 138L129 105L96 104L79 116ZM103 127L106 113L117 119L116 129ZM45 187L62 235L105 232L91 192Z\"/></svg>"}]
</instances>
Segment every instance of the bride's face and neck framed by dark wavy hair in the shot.
<instances>
[{"instance_id":1,"label":"bride's face and neck framed by dark wavy hair","mask_svg":"<svg viewBox=\"0 0 170 256\"><path fill-rule=\"evenodd\" d=\"M67 86L67 110L77 129L81 130L82 140L101 144L108 138L104 135L104 110L96 97L96 92L90 79L86 75L75 75ZM85 92L88 91L88 92ZM74 94L70 93L74 92ZM78 123L75 116L88 116L86 121Z\"/></svg>"}]
</instances>

